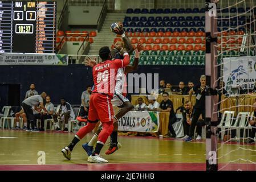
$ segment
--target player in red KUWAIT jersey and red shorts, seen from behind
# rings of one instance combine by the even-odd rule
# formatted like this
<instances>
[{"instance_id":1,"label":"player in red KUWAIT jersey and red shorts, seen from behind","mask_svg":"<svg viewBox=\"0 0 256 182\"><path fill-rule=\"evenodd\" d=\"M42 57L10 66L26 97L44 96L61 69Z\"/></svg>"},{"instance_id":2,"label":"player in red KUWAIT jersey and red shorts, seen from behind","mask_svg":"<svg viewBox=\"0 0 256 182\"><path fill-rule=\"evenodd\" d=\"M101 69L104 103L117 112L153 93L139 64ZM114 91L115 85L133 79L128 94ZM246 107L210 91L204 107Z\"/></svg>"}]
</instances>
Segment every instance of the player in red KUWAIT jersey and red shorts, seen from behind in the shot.
<instances>
[{"instance_id":1,"label":"player in red KUWAIT jersey and red shorts, seen from behind","mask_svg":"<svg viewBox=\"0 0 256 182\"><path fill-rule=\"evenodd\" d=\"M113 107L111 99L115 93L116 75L119 68L126 67L130 58L127 52L124 52L124 59L111 60L109 47L102 47L99 51L101 63L96 64L92 69L94 77L94 90L90 98L90 107L88 114L88 123L76 133L72 142L62 149L62 153L68 160L71 159L71 152L86 134L90 133L100 120L103 130L99 134L97 144L92 155L89 156L88 162L92 163L108 163L107 160L101 158L100 151L107 141L109 135L113 131Z\"/></svg>"}]
</instances>

